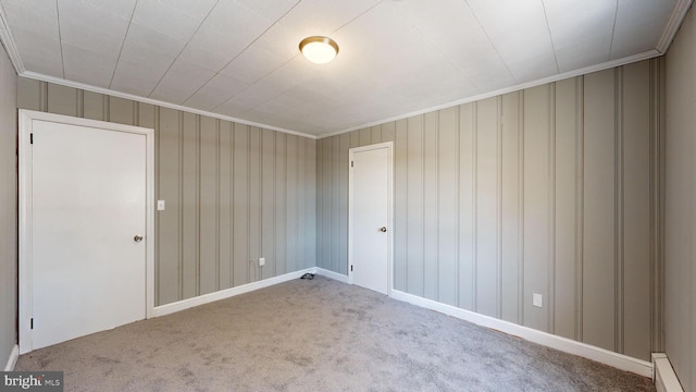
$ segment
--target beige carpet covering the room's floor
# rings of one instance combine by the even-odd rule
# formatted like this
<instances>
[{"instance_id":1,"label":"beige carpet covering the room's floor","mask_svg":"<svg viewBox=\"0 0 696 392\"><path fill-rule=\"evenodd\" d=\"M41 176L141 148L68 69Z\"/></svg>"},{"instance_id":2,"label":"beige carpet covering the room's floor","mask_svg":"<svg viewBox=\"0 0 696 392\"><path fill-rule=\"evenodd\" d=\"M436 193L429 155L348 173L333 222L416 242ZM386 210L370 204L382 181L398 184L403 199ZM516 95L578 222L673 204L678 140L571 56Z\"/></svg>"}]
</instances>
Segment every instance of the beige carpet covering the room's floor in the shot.
<instances>
[{"instance_id":1,"label":"beige carpet covering the room's floor","mask_svg":"<svg viewBox=\"0 0 696 392\"><path fill-rule=\"evenodd\" d=\"M316 277L22 355L65 391L655 391L649 379Z\"/></svg>"}]
</instances>

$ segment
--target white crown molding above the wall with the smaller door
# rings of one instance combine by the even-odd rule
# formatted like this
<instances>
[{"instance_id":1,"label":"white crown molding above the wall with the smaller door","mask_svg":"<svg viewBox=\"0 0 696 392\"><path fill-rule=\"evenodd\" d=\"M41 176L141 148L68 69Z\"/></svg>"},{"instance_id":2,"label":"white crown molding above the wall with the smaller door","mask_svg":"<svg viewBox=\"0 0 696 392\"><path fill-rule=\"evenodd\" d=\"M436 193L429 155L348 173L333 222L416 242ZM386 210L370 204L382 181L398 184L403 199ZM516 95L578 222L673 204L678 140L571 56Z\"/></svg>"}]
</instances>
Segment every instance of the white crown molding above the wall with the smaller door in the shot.
<instances>
[{"instance_id":1,"label":"white crown molding above the wall with the smaller door","mask_svg":"<svg viewBox=\"0 0 696 392\"><path fill-rule=\"evenodd\" d=\"M336 136L336 135L345 134L345 133L357 131L357 130L366 128L366 127L374 126L374 125L381 125L381 124L384 124L384 123L387 123L387 122L391 122L391 121L403 120L403 119L408 119L408 118L411 118L411 117L414 117L414 115L430 113L430 112L434 112L434 111L437 111L437 110L440 110L440 109L451 108L451 107L455 107L455 106L458 106L458 105L474 102L474 101L477 101L477 100L482 100L482 99L486 99L486 98L490 98L490 97L497 97L497 96L500 96L500 95L504 95L504 94L513 93L513 91L522 90L522 89L525 89L525 88L531 88L531 87L545 85L547 83L552 83L552 82L567 79L569 77L586 75L586 74L593 73L593 72L604 71L604 70L608 70L608 69L612 69L612 68L616 68L616 66L621 66L621 65L634 63L634 62L642 61L642 60L652 59L652 58L656 58L656 57L659 57L659 56L662 56L662 52L660 52L657 49L651 49L651 50L648 50L648 51L644 51L642 53L629 56L629 57L621 58L621 59L618 59L618 60L607 61L607 62L604 62L601 64L585 66L585 68L580 69L580 70L568 71L568 72L563 72L563 73L560 73L560 74L547 76L547 77L544 77L544 78L539 78L539 79L535 79L535 81L531 81L531 82L520 83L520 84L517 84L514 86L500 88L500 89L497 89L497 90L494 90L494 91L483 93L483 94L478 94L478 95L475 95L475 96L471 96L471 97L467 97L467 98L462 98L462 99L458 99L458 100L453 100L453 101L436 105L436 106L433 106L433 107L430 107L430 108L420 109L420 110L412 111L412 112L409 112L409 113L395 115L393 118L377 120L377 121L360 124L360 125L357 125L357 126L351 126L351 127L348 127L348 128L345 128L345 130L341 130L341 131L336 131L336 132L331 132L331 133L327 133L327 134L322 134L322 135L316 136L316 138L323 139L325 137Z\"/></svg>"}]
</instances>

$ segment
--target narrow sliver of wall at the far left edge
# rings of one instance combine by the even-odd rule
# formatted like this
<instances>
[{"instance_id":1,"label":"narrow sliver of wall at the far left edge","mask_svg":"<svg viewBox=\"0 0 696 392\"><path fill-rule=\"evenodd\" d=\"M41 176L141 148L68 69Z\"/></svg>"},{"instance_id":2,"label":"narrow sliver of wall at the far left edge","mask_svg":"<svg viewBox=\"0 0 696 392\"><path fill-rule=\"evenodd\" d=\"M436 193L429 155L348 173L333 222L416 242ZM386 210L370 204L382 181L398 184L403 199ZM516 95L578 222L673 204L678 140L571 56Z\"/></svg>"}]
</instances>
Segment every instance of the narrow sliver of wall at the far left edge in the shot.
<instances>
[{"instance_id":1,"label":"narrow sliver of wall at the far left edge","mask_svg":"<svg viewBox=\"0 0 696 392\"><path fill-rule=\"evenodd\" d=\"M0 370L16 343L16 73L0 49Z\"/></svg>"}]
</instances>

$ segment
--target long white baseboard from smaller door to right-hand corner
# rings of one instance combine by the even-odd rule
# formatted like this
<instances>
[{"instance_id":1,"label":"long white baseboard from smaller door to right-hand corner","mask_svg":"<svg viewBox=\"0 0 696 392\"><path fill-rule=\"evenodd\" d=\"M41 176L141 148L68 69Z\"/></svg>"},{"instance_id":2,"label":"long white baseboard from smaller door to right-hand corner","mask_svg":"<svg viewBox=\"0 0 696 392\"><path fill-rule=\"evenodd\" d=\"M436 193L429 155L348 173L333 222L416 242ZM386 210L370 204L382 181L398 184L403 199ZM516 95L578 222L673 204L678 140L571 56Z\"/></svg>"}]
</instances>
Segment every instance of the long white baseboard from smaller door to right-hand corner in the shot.
<instances>
[{"instance_id":1,"label":"long white baseboard from smaller door to right-hand corner","mask_svg":"<svg viewBox=\"0 0 696 392\"><path fill-rule=\"evenodd\" d=\"M515 335L530 342L538 343L547 347L562 351L564 353L593 359L621 370L631 371L643 377L652 376L652 364L646 360L636 359L627 355L610 352L608 350L596 347L571 339L558 336L543 331L537 331L529 327L519 326L513 322L500 320L474 311L464 310L451 305L426 299L398 290L391 291L391 297L431 310L439 311L469 322L473 322L482 327Z\"/></svg>"}]
</instances>

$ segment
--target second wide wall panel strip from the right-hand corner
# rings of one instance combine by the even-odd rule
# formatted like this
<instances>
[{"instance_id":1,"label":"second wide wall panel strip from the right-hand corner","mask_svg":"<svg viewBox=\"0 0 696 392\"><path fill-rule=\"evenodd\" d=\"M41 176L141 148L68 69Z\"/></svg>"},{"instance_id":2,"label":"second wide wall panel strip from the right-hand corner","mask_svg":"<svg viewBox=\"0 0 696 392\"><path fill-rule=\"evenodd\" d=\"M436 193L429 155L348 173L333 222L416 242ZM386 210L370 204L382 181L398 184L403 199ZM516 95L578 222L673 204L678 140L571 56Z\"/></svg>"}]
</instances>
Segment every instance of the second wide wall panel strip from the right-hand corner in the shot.
<instances>
[{"instance_id":1,"label":"second wide wall panel strip from the right-hand corner","mask_svg":"<svg viewBox=\"0 0 696 392\"><path fill-rule=\"evenodd\" d=\"M583 338L616 350L614 70L585 76Z\"/></svg>"}]
</instances>

